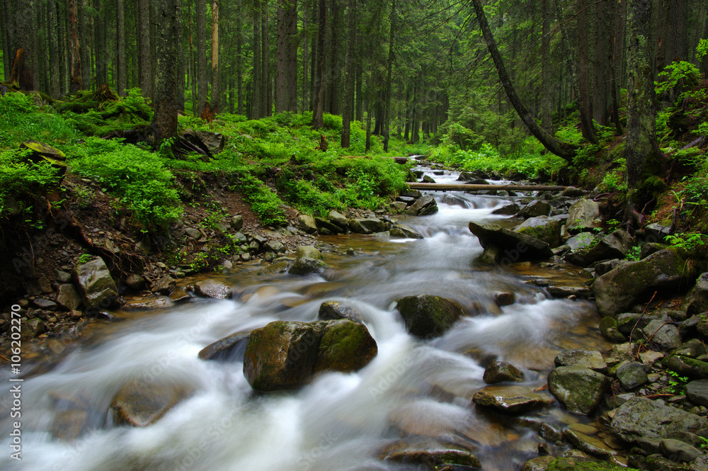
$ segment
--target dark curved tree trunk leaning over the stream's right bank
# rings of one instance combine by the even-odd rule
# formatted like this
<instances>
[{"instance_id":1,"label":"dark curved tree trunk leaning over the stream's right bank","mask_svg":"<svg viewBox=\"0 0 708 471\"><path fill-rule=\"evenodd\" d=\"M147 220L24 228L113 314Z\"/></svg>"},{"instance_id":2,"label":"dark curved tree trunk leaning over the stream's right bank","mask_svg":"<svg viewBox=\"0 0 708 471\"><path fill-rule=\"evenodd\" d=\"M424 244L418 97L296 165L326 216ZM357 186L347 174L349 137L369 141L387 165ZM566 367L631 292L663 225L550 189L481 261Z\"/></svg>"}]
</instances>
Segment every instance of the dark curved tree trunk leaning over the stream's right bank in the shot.
<instances>
[{"instance_id":1,"label":"dark curved tree trunk leaning over the stream's right bank","mask_svg":"<svg viewBox=\"0 0 708 471\"><path fill-rule=\"evenodd\" d=\"M506 73L506 67L504 67L503 59L501 58L501 54L499 54L499 50L496 47L496 42L491 34L491 29L489 29L489 23L486 21L486 16L484 15L484 9L482 8L481 1L472 0L472 4L474 5L474 11L477 16L477 21L479 21L479 27L482 30L482 35L484 35L484 40L487 48L489 49L489 54L491 55L494 65L496 66L496 70L499 74L499 80L504 86L506 95L508 96L511 105L516 110L516 113L518 113L519 118L523 120L532 135L534 135L536 139L549 150L549 152L571 161L576 153L575 147L566 142L560 142L552 135L549 135L548 132L544 131L543 128L536 123L534 116L529 113L529 110L527 110L524 104L521 103L521 100L516 94L514 86L509 79L509 75Z\"/></svg>"}]
</instances>

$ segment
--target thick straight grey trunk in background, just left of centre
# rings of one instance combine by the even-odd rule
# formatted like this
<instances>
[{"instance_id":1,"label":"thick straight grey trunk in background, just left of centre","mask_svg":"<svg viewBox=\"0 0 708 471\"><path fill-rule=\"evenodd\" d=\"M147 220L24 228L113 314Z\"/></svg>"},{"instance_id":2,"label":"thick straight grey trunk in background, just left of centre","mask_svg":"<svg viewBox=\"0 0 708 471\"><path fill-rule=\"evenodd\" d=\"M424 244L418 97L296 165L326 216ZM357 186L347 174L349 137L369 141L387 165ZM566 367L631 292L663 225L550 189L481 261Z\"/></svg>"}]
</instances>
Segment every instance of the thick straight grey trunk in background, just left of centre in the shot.
<instances>
[{"instance_id":1,"label":"thick straight grey trunk in background, just left of centre","mask_svg":"<svg viewBox=\"0 0 708 471\"><path fill-rule=\"evenodd\" d=\"M275 111L297 113L297 3L278 1Z\"/></svg>"}]
</instances>

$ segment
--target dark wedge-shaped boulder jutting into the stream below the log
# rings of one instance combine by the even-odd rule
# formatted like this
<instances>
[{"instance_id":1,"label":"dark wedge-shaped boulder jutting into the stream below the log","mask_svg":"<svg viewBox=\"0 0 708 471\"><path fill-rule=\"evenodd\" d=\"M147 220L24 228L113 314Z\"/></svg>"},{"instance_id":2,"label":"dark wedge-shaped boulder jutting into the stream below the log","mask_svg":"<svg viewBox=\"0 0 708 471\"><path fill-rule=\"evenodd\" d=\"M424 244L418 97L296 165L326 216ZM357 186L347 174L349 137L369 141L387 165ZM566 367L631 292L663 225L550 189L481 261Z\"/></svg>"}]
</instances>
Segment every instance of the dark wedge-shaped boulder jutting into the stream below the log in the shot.
<instances>
[{"instance_id":1,"label":"dark wedge-shaped boulder jutting into the stream below the log","mask_svg":"<svg viewBox=\"0 0 708 471\"><path fill-rule=\"evenodd\" d=\"M469 231L476 235L485 250L495 251L494 261L497 263L541 260L553 256L547 242L496 224L470 222Z\"/></svg>"}]
</instances>

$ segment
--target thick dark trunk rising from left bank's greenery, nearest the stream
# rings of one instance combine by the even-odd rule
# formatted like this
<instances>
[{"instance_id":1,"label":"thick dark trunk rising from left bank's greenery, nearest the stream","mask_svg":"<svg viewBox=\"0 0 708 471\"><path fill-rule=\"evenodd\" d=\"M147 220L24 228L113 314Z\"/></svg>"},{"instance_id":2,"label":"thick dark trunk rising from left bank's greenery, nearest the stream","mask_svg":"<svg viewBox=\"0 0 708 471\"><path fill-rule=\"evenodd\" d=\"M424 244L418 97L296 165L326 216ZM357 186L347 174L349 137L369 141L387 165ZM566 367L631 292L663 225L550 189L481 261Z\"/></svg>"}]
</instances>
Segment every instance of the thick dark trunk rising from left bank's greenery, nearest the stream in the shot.
<instances>
[{"instance_id":1,"label":"thick dark trunk rising from left bank's greenery, nearest the stream","mask_svg":"<svg viewBox=\"0 0 708 471\"><path fill-rule=\"evenodd\" d=\"M178 0L156 1L154 145L177 135L177 16Z\"/></svg>"}]
</instances>

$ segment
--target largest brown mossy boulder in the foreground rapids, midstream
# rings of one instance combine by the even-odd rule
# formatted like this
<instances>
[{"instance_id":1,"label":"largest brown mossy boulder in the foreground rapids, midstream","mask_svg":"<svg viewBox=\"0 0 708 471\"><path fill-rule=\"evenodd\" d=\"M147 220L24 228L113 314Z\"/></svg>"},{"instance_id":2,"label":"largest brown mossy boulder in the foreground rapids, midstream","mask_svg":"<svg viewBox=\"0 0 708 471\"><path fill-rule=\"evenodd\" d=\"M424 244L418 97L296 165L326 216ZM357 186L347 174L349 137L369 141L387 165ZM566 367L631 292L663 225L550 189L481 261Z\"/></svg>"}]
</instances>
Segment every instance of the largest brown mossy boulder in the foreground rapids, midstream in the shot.
<instances>
[{"instance_id":1,"label":"largest brown mossy boulder in the foreground rapids, midstream","mask_svg":"<svg viewBox=\"0 0 708 471\"><path fill-rule=\"evenodd\" d=\"M360 322L275 321L251 331L244 375L254 390L290 390L324 371L350 373L376 356L376 342Z\"/></svg>"}]
</instances>

